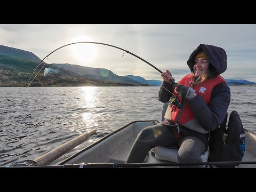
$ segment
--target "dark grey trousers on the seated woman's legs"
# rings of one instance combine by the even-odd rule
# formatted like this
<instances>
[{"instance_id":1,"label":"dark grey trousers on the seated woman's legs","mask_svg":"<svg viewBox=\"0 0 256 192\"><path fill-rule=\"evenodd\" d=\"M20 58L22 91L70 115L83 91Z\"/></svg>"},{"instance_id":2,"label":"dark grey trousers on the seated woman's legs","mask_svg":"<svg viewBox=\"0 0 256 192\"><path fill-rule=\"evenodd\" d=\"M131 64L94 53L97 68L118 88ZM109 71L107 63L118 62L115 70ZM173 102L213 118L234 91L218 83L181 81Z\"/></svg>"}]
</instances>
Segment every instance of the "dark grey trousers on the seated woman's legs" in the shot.
<instances>
[{"instance_id":1,"label":"dark grey trousers on the seated woman's legs","mask_svg":"<svg viewBox=\"0 0 256 192\"><path fill-rule=\"evenodd\" d=\"M174 137L172 129L173 127L162 124L145 127L135 139L126 163L143 163L148 151L157 146L178 147L179 163L202 162L201 155L206 150L204 143L190 135L184 135L182 138L177 139ZM203 165L190 167L203 167Z\"/></svg>"}]
</instances>

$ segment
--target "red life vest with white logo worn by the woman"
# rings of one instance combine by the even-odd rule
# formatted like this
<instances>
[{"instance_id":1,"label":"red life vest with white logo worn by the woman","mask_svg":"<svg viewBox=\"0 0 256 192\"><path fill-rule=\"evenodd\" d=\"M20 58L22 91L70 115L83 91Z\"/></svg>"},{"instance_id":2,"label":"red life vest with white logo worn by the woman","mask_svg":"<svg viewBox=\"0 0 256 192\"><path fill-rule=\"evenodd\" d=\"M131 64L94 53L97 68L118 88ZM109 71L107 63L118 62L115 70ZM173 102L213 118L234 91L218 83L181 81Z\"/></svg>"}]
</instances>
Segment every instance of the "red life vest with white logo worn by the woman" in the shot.
<instances>
[{"instance_id":1,"label":"red life vest with white logo worn by the woman","mask_svg":"<svg viewBox=\"0 0 256 192\"><path fill-rule=\"evenodd\" d=\"M181 81L179 82L179 85L190 86L190 84L192 83L192 79L193 79L193 76L191 74L188 74L181 79ZM213 87L220 83L225 83L225 82L226 81L223 77L221 77L220 75L217 75L207 79L201 85L194 84L193 89L196 91L196 94L201 95L206 105L208 106L211 100L211 93L212 93ZM176 97L180 101L182 100L182 98L180 97L176 89L173 91L173 94L176 95ZM197 122L192 109L187 103L188 100L187 99L183 99L183 100L185 101L183 101L183 106L181 108L173 106L171 103L169 103L169 106L166 109L164 118L169 119L174 123L179 123L179 125L183 125L193 131L196 131L199 133L207 133L208 131L205 131L203 127ZM182 111L180 114L181 109ZM180 114L180 117L178 119L179 114ZM177 119L178 119L178 122L177 122Z\"/></svg>"}]
</instances>

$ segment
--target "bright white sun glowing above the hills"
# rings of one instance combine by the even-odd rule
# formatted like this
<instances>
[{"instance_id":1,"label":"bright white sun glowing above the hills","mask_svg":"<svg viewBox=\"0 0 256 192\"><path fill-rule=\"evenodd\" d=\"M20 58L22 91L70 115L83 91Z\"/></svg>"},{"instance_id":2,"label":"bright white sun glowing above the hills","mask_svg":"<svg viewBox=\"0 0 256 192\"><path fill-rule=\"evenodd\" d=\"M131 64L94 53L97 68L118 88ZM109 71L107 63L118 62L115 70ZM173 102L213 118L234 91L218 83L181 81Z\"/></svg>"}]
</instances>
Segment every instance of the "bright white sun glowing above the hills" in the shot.
<instances>
[{"instance_id":1,"label":"bright white sun glowing above the hills","mask_svg":"<svg viewBox=\"0 0 256 192\"><path fill-rule=\"evenodd\" d=\"M92 38L82 35L73 39L73 42L94 42ZM73 57L79 62L79 65L90 65L96 55L97 47L91 43L78 43L71 46Z\"/></svg>"}]
</instances>

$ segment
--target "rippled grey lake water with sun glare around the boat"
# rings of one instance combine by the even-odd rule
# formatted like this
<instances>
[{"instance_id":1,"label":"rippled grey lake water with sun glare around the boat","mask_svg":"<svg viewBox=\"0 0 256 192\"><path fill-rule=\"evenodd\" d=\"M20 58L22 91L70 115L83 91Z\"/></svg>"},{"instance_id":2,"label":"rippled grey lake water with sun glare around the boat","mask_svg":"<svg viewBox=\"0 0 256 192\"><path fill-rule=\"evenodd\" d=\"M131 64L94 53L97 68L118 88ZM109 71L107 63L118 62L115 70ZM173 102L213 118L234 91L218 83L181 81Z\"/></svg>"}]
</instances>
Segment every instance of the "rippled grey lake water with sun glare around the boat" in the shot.
<instances>
[{"instance_id":1,"label":"rippled grey lake water with sun glare around the boat","mask_svg":"<svg viewBox=\"0 0 256 192\"><path fill-rule=\"evenodd\" d=\"M35 159L82 133L89 140L52 164L138 120L161 121L159 87L0 87L0 166ZM256 132L255 86L231 86L236 110Z\"/></svg>"}]
</instances>

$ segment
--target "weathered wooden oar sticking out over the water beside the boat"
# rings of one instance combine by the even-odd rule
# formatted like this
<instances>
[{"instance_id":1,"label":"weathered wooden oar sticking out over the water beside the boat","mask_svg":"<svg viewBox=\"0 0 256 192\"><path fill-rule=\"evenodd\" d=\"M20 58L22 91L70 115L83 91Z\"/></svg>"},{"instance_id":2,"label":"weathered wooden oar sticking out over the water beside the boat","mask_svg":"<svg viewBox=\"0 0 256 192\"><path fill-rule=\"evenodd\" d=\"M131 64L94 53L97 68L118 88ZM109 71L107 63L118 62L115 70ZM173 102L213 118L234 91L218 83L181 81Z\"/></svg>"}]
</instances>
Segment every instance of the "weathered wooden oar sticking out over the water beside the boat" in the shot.
<instances>
[{"instance_id":1,"label":"weathered wooden oar sticking out over the water beside the boat","mask_svg":"<svg viewBox=\"0 0 256 192\"><path fill-rule=\"evenodd\" d=\"M49 165L62 155L66 154L71 149L75 148L76 146L80 145L85 140L89 139L91 135L96 133L97 130L92 130L89 133L84 133L82 135L79 135L78 137L64 143L63 145L47 152L46 154L37 157L34 159L35 162L37 162L38 165Z\"/></svg>"}]
</instances>

